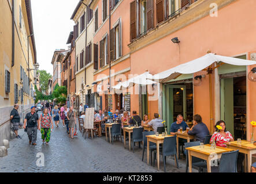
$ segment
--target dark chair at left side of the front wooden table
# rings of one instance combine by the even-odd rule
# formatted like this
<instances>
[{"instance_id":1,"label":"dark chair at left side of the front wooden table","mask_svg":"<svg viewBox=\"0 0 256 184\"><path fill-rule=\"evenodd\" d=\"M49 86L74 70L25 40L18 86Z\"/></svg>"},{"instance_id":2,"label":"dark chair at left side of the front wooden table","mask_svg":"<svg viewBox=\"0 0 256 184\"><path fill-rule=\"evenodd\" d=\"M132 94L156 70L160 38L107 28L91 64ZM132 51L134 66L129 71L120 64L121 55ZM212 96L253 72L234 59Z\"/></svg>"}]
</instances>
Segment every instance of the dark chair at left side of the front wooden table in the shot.
<instances>
[{"instance_id":1,"label":"dark chair at left side of the front wooden table","mask_svg":"<svg viewBox=\"0 0 256 184\"><path fill-rule=\"evenodd\" d=\"M185 148L192 147L200 145L200 141L194 141L190 143L185 143ZM185 150L185 156L186 156L186 165L185 165L185 172L188 173L188 151ZM202 173L203 167L207 167L207 163L203 159L196 158L195 156L192 156L192 168L195 168L198 170L199 173Z\"/></svg>"}]
</instances>

